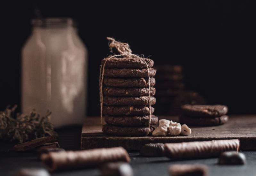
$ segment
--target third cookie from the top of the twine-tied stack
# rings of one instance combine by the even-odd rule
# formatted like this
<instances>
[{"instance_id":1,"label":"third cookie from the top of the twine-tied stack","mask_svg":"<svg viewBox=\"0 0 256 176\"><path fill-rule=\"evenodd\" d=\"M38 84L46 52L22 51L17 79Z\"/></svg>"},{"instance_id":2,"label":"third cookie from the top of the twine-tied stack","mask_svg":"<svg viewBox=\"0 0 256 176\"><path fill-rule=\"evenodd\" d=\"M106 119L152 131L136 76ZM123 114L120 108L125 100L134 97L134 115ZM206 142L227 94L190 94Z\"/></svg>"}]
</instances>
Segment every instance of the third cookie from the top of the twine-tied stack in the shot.
<instances>
[{"instance_id":1,"label":"third cookie from the top of the twine-tied stack","mask_svg":"<svg viewBox=\"0 0 256 176\"><path fill-rule=\"evenodd\" d=\"M148 78L104 78L104 84L112 87L145 88L148 87L148 83ZM155 79L150 78L150 86L154 85Z\"/></svg>"}]
</instances>

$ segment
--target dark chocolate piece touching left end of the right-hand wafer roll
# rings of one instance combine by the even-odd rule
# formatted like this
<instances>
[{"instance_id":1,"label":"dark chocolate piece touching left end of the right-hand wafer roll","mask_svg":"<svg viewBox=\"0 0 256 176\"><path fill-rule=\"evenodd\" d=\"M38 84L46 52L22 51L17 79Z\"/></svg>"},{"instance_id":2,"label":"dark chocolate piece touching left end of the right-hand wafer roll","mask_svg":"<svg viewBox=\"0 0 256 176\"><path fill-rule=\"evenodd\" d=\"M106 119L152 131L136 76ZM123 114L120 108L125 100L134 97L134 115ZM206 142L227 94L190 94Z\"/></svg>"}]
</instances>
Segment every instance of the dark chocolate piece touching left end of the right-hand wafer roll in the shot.
<instances>
[{"instance_id":1,"label":"dark chocolate piece touching left end of the right-hand wafer roll","mask_svg":"<svg viewBox=\"0 0 256 176\"><path fill-rule=\"evenodd\" d=\"M142 146L140 155L146 157L162 157L164 156L163 143L149 143Z\"/></svg>"}]
</instances>

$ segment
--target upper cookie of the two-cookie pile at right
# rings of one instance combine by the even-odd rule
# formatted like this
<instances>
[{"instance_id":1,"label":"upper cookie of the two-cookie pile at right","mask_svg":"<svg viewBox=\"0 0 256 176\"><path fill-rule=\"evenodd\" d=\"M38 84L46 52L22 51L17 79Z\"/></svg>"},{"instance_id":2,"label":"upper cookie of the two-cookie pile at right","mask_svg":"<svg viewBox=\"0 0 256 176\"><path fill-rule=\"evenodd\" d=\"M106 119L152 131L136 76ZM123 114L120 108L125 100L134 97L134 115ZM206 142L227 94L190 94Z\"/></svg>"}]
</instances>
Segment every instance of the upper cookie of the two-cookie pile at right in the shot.
<instances>
[{"instance_id":1,"label":"upper cookie of the two-cookie pile at right","mask_svg":"<svg viewBox=\"0 0 256 176\"><path fill-rule=\"evenodd\" d=\"M181 106L183 114L192 117L220 117L227 114L228 108L224 105L191 105Z\"/></svg>"}]
</instances>

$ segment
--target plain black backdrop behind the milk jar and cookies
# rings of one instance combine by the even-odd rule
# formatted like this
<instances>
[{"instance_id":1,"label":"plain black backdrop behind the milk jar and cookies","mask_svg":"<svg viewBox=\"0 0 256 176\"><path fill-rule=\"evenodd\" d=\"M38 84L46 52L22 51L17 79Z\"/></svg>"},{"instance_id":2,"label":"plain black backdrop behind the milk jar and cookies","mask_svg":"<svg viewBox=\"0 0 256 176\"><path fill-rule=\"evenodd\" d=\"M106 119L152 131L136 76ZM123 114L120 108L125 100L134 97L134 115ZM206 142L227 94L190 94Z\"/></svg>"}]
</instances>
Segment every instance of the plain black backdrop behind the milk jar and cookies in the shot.
<instances>
[{"instance_id":1,"label":"plain black backdrop behind the milk jar and cookies","mask_svg":"<svg viewBox=\"0 0 256 176\"><path fill-rule=\"evenodd\" d=\"M33 2L33 3L32 3ZM35 3L36 2L36 3ZM88 114L99 114L106 36L156 64L185 67L186 88L230 113L256 113L255 14L250 1L22 1L3 3L0 109L20 104L20 52L37 4L43 17L72 17L89 51Z\"/></svg>"}]
</instances>

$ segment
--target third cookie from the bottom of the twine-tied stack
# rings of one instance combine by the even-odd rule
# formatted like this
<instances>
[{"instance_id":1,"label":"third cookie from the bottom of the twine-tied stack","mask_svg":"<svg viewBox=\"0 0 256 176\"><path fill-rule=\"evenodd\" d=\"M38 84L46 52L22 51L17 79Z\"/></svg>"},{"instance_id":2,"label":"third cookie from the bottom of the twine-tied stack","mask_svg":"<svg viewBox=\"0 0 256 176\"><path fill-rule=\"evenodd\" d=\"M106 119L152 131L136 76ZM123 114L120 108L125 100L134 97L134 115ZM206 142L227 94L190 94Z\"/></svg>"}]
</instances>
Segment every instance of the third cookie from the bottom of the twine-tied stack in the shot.
<instances>
[{"instance_id":1,"label":"third cookie from the bottom of the twine-tied stack","mask_svg":"<svg viewBox=\"0 0 256 176\"><path fill-rule=\"evenodd\" d=\"M154 113L154 108L151 106L151 114ZM103 114L110 116L124 115L149 115L148 106L103 106Z\"/></svg>"}]
</instances>

